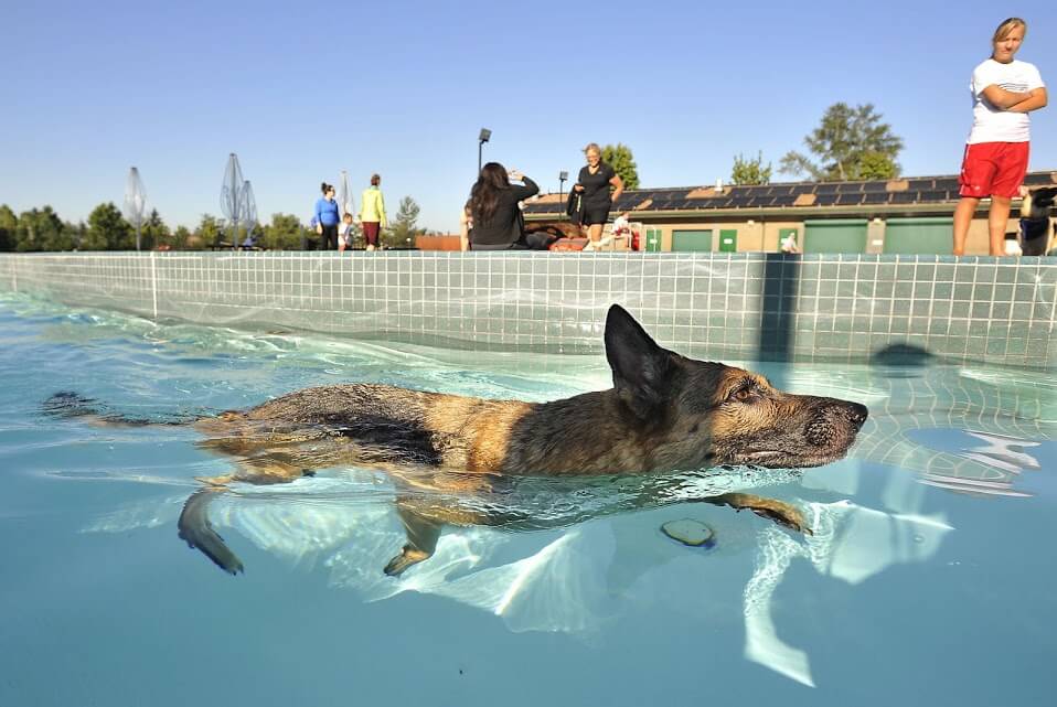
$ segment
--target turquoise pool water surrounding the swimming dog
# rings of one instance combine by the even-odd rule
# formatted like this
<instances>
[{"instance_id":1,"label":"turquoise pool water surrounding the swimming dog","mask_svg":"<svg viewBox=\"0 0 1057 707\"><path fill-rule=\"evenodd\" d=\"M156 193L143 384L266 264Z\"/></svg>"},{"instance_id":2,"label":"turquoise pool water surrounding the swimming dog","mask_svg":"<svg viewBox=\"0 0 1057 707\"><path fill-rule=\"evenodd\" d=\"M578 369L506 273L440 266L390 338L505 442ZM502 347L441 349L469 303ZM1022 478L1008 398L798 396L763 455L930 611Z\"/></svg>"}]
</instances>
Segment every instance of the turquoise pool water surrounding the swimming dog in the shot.
<instances>
[{"instance_id":1,"label":"turquoise pool water surrounding the swimming dog","mask_svg":"<svg viewBox=\"0 0 1057 707\"><path fill-rule=\"evenodd\" d=\"M49 418L76 390L136 416L383 382L545 400L602 355L248 334L0 296L0 705L1044 705L1057 694L1057 384L973 366L741 363L866 404L848 459L803 472L541 482L492 500L544 529L448 528L401 579L386 479L241 486L211 517L246 565L177 537L227 462L180 427ZM660 342L662 345L664 342ZM813 536L694 503L797 504ZM665 537L692 518L709 548Z\"/></svg>"}]
</instances>

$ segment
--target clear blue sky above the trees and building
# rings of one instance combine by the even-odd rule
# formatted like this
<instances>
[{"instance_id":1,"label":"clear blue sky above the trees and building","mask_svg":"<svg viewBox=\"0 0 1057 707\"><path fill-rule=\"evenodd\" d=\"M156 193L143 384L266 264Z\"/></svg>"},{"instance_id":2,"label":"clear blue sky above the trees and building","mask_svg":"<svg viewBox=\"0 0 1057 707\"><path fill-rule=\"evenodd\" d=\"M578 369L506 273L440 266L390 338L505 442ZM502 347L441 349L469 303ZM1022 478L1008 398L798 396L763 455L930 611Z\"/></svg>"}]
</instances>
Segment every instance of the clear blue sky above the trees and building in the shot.
<instances>
[{"instance_id":1,"label":"clear blue sky above the trees and building","mask_svg":"<svg viewBox=\"0 0 1057 707\"><path fill-rule=\"evenodd\" d=\"M322 180L380 172L388 210L455 229L484 158L556 191L589 141L632 148L643 186L776 167L828 106L873 103L909 175L955 174L969 76L995 25L1057 86L1051 1L6 2L0 203L67 221L120 205L131 165L171 226L220 215L229 152L264 222L308 222ZM1057 95L1032 170L1057 170ZM776 181L790 176L776 175ZM359 196L357 196L359 202Z\"/></svg>"}]
</instances>

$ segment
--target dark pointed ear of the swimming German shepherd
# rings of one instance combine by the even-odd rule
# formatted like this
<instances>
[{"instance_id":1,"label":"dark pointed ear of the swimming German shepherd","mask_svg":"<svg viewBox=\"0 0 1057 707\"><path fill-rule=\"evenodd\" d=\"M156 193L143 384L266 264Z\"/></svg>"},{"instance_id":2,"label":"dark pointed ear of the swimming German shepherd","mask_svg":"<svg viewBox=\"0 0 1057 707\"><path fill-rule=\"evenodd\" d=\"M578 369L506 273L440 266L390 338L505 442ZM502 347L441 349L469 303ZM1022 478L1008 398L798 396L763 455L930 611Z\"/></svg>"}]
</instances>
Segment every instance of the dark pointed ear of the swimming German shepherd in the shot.
<instances>
[{"instance_id":1,"label":"dark pointed ear of the swimming German shepherd","mask_svg":"<svg viewBox=\"0 0 1057 707\"><path fill-rule=\"evenodd\" d=\"M619 304L606 317L606 358L613 388L636 417L647 420L664 400L672 354L656 345Z\"/></svg>"}]
</instances>

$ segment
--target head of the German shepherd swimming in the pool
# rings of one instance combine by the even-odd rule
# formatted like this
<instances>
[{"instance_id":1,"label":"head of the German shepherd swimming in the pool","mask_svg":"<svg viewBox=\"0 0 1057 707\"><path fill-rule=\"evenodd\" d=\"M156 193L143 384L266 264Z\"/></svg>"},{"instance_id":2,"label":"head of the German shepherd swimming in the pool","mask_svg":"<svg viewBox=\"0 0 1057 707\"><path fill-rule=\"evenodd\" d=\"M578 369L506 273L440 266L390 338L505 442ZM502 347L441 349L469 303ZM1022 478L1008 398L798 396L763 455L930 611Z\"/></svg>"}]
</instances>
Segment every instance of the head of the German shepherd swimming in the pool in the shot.
<instances>
[{"instance_id":1,"label":"head of the German shepherd swimming in the pool","mask_svg":"<svg viewBox=\"0 0 1057 707\"><path fill-rule=\"evenodd\" d=\"M791 395L755 373L660 347L617 304L606 319L613 387L653 467L818 467L847 453L866 407Z\"/></svg>"}]
</instances>

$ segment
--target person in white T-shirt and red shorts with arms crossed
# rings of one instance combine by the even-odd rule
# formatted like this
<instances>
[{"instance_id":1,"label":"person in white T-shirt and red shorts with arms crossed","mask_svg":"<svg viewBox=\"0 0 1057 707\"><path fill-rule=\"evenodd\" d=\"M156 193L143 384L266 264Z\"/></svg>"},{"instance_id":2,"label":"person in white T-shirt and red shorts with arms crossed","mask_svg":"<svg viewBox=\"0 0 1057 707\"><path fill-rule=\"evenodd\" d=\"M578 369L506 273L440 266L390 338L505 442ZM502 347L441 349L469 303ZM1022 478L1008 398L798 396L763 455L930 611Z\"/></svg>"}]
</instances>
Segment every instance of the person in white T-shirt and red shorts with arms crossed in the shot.
<instances>
[{"instance_id":1,"label":"person in white T-shirt and red shorts with arms crossed","mask_svg":"<svg viewBox=\"0 0 1057 707\"><path fill-rule=\"evenodd\" d=\"M1027 114L1047 103L1046 85L1038 69L1013 58L1026 32L1024 20L1004 20L991 38L991 58L973 69L969 84L973 125L959 179L961 201L954 208L954 255L965 254L969 225L985 196L991 196L991 255L1005 255L1010 202L1027 174Z\"/></svg>"}]
</instances>

